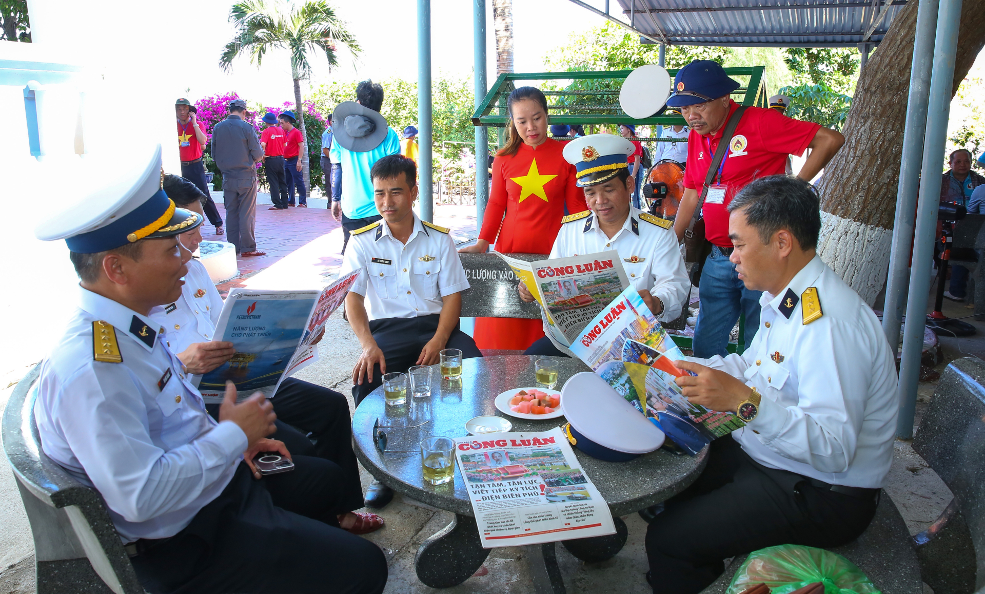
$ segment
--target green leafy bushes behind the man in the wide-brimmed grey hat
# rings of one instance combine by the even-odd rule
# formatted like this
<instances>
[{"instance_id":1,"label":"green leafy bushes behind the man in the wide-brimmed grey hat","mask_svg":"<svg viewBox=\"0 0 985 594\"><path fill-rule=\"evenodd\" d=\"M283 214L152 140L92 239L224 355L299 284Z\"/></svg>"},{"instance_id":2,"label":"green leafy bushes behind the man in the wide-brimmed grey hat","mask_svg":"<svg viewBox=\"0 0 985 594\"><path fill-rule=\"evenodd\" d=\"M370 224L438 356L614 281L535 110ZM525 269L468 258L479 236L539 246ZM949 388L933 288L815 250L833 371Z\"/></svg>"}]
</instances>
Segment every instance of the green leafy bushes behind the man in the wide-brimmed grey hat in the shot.
<instances>
[{"instance_id":1,"label":"green leafy bushes behind the man in the wide-brimmed grey hat","mask_svg":"<svg viewBox=\"0 0 985 594\"><path fill-rule=\"evenodd\" d=\"M328 114L343 101L355 101L358 84L356 81L333 81L319 85L312 90L311 99L319 111ZM398 133L407 126L418 126L417 82L387 79L380 85L383 87L380 113L387 124ZM474 98L471 79L441 77L431 81L431 135L435 154L457 157L463 145L450 143L474 142L475 128L470 119L475 110Z\"/></svg>"}]
</instances>

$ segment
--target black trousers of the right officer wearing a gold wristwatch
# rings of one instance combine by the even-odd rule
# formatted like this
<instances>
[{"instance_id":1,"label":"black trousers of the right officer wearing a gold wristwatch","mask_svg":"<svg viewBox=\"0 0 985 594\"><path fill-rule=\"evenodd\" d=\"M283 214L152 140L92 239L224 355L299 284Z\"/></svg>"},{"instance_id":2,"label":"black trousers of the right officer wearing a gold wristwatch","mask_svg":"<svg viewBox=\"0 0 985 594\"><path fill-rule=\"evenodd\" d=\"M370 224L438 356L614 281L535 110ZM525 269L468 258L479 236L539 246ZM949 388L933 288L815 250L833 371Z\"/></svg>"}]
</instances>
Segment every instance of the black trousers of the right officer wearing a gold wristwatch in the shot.
<instances>
[{"instance_id":1,"label":"black trousers of the right officer wearing a gold wristwatch","mask_svg":"<svg viewBox=\"0 0 985 594\"><path fill-rule=\"evenodd\" d=\"M701 476L668 499L646 531L653 591L696 594L721 574L723 560L766 547L849 543L876 514L876 494L861 498L815 487L758 464L731 435L720 437Z\"/></svg>"}]
</instances>

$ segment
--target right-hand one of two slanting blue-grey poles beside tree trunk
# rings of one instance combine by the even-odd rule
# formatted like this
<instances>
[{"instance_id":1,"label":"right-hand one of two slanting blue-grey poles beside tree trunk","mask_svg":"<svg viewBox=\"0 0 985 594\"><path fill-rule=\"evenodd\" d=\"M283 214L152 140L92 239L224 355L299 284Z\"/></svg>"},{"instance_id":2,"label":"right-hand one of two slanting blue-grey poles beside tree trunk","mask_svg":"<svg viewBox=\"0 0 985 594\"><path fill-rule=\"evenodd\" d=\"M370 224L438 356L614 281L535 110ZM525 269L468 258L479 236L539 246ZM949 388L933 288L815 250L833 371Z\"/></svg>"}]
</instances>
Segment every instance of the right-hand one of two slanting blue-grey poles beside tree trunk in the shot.
<instances>
[{"instance_id":1,"label":"right-hand one of two slanting blue-grey poles beside tree trunk","mask_svg":"<svg viewBox=\"0 0 985 594\"><path fill-rule=\"evenodd\" d=\"M930 275L925 267L934 256L934 234L937 231L937 213L941 202L941 180L938 175L948 137L954 55L957 52L957 27L960 20L961 0L941 0L937 13L930 99L927 104L927 133L924 138L922 165L924 175L920 179L916 231L913 234L913 273L910 275L910 290L906 297L903 356L899 363L899 417L896 419L896 436L902 439L913 436L920 355L923 351L930 291Z\"/></svg>"}]
</instances>

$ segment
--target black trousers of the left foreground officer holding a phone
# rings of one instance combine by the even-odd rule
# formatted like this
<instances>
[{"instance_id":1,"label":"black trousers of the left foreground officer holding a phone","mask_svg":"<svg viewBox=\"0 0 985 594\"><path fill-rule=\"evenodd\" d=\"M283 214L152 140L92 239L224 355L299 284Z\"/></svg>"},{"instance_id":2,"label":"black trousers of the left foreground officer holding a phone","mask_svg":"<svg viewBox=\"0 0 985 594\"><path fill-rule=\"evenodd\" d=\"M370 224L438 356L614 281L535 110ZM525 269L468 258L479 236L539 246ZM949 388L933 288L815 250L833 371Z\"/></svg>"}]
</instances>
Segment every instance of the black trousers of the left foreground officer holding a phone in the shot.
<instances>
[{"instance_id":1,"label":"black trousers of the left foreground officer holding a phone","mask_svg":"<svg viewBox=\"0 0 985 594\"><path fill-rule=\"evenodd\" d=\"M379 547L338 527L347 510L342 470L294 456L295 470L253 478L240 463L226 490L184 530L138 541L131 558L152 594L378 594Z\"/></svg>"}]
</instances>

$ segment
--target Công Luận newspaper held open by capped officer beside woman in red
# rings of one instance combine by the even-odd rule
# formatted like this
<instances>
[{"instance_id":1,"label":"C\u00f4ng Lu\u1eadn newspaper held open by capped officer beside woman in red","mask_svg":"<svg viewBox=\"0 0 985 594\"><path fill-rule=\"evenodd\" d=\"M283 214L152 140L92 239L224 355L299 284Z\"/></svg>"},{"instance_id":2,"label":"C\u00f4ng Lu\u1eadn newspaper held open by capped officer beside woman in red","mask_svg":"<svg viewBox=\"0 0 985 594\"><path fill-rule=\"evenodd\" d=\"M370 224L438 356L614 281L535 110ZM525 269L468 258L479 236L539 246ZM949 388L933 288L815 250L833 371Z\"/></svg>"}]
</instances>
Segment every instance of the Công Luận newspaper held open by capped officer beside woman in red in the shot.
<instances>
[{"instance_id":1,"label":"C\u00f4ng Lu\u1eadn newspaper held open by capped officer beside woman in red","mask_svg":"<svg viewBox=\"0 0 985 594\"><path fill-rule=\"evenodd\" d=\"M615 249L583 256L526 262L495 252L541 304L544 333L558 350L569 347L589 321L629 280Z\"/></svg>"}]
</instances>

